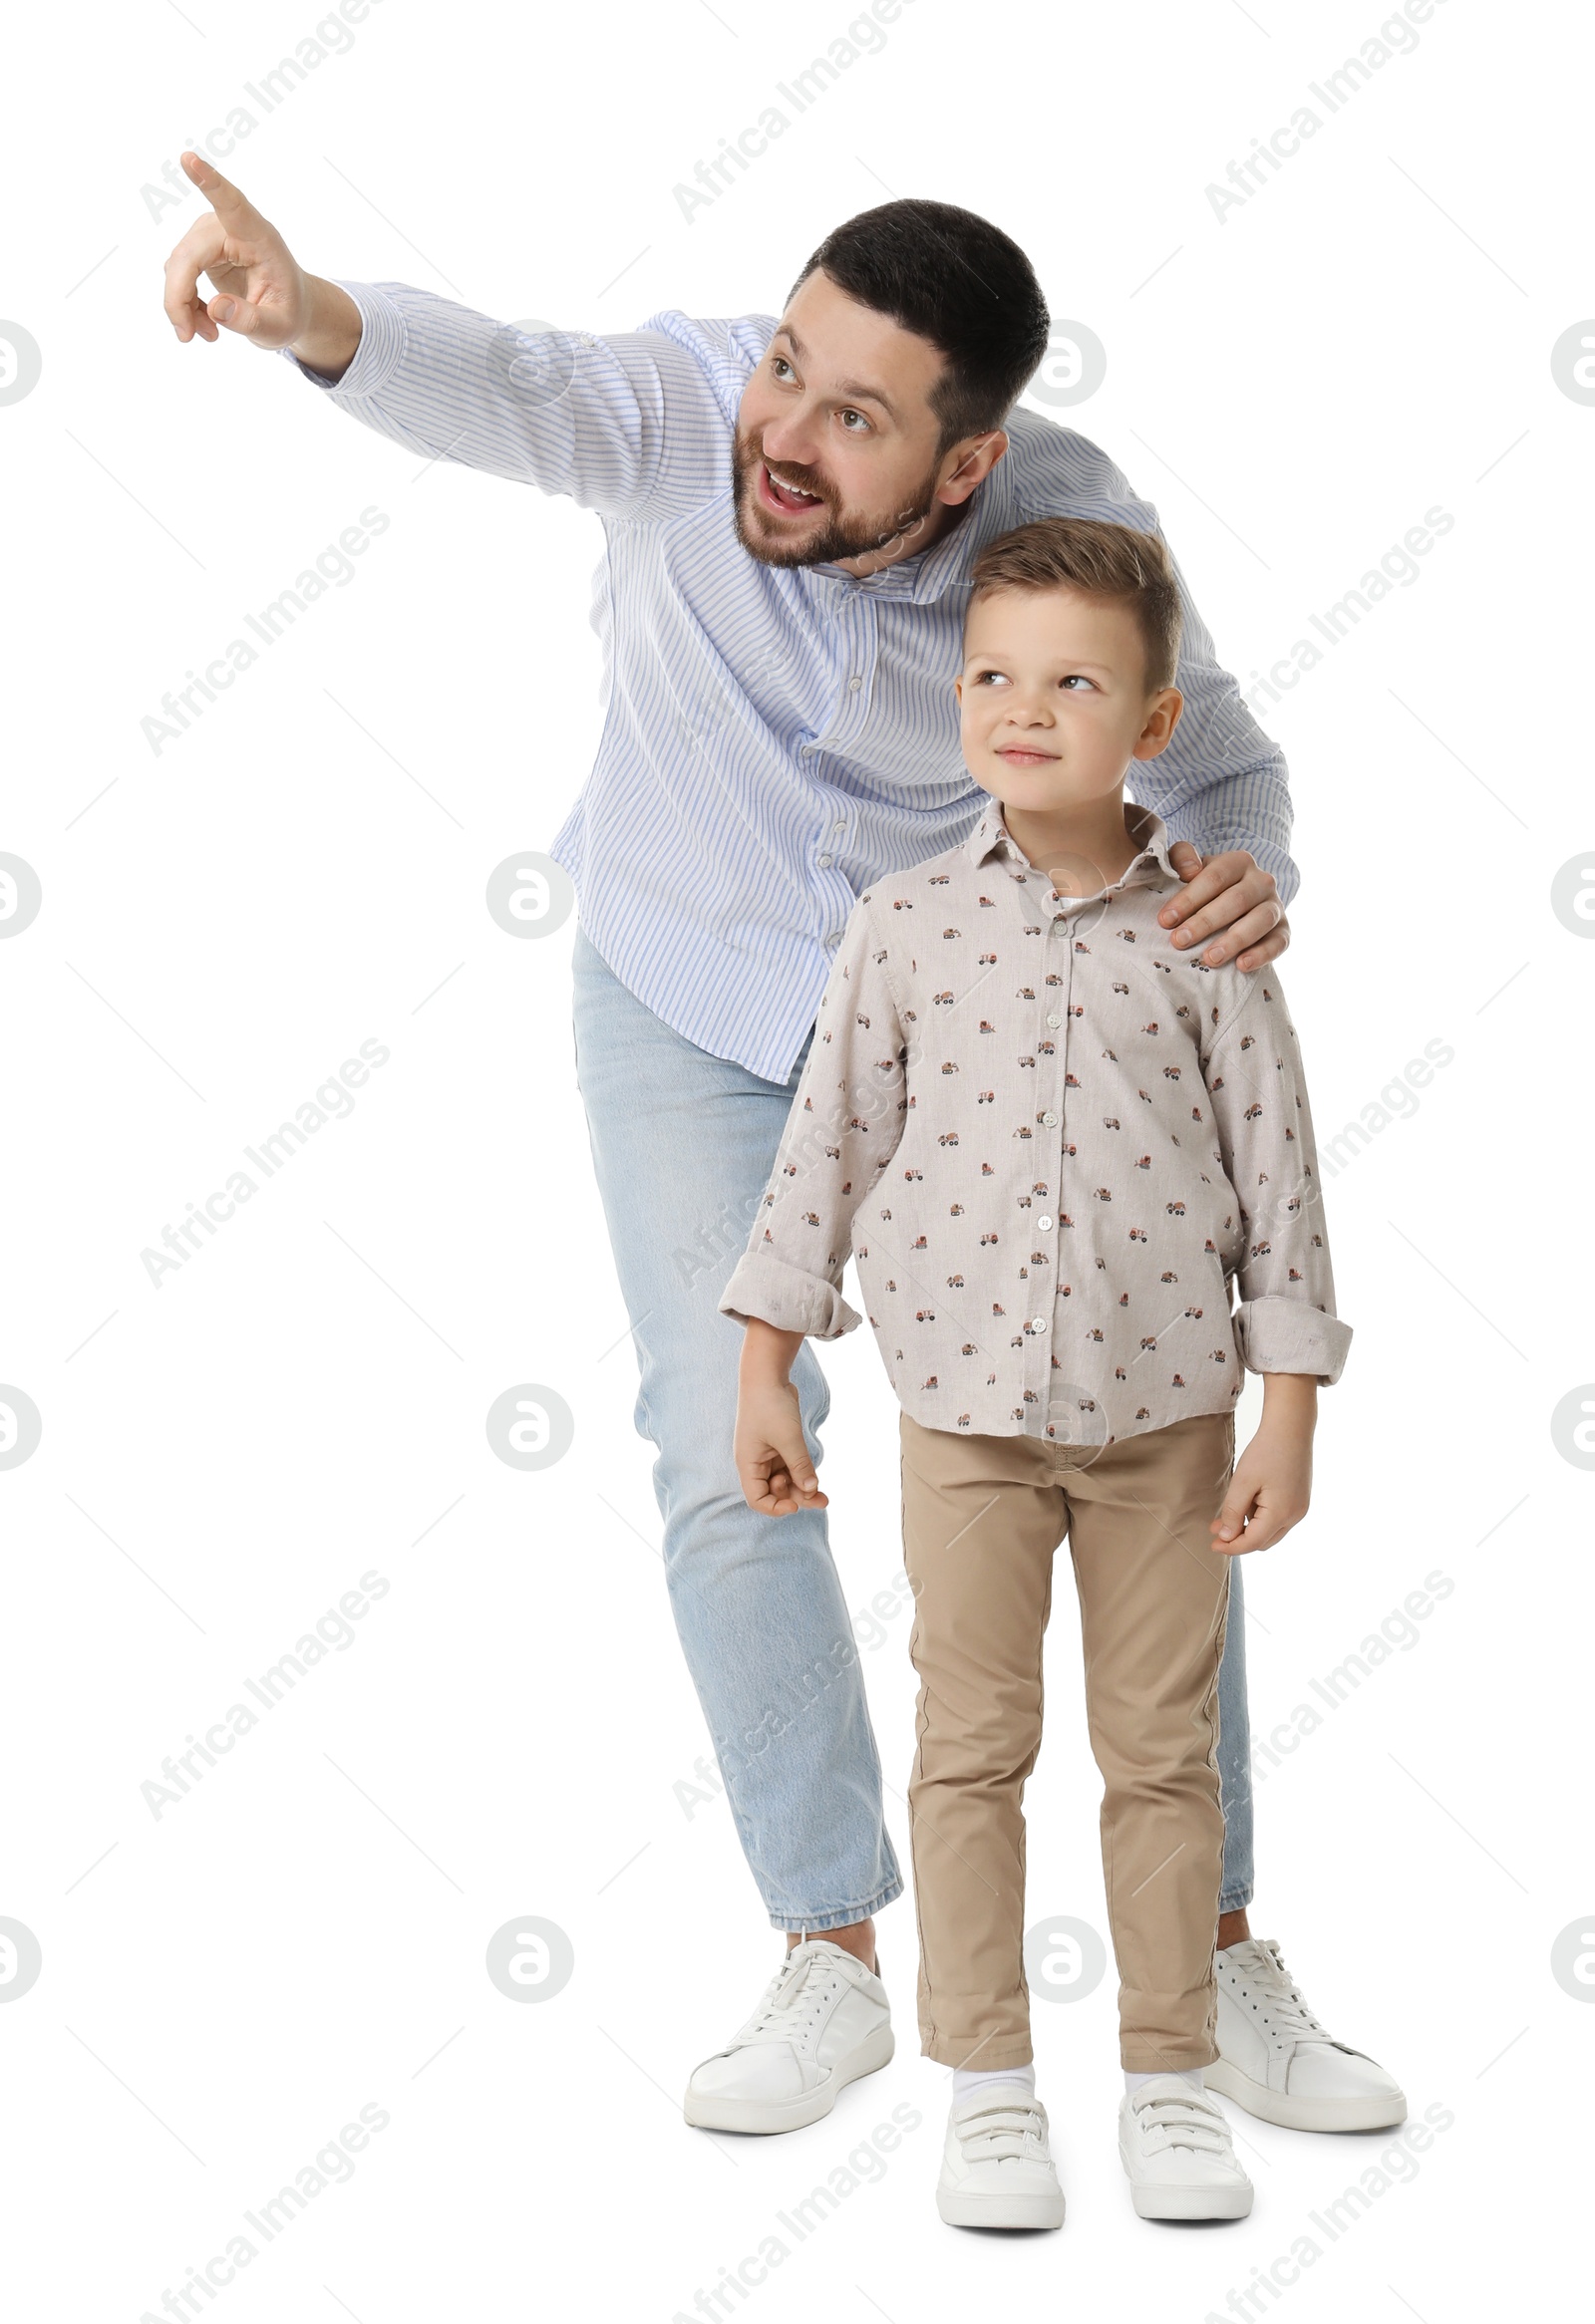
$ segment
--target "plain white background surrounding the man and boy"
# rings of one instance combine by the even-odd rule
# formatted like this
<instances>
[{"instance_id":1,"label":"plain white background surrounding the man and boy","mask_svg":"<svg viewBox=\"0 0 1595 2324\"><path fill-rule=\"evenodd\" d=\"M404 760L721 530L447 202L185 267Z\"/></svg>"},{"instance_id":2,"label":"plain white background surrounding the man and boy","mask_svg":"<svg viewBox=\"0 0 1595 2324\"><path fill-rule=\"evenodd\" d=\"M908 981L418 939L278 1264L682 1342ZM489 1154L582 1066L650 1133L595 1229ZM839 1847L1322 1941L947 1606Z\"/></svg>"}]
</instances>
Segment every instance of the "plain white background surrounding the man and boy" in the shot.
<instances>
[{"instance_id":1,"label":"plain white background surrounding the man and boy","mask_svg":"<svg viewBox=\"0 0 1595 2324\"><path fill-rule=\"evenodd\" d=\"M1249 1569L1258 1734L1428 1573L1453 1583L1258 1789L1253 1924L1414 2117L1453 2117L1330 2245L1309 2212L1388 2140L1235 2110L1253 2217L1132 2217L1111 1975L1035 2010L1063 2236L942 2229L946 2075L916 2054L907 1901L881 1922L900 2027L881 2075L791 2138L681 2124L688 2068L779 1941L723 1801L677 1789L709 1745L630 1420L572 925L516 944L484 909L593 758L600 525L419 474L286 363L179 349L160 314L198 198L151 218L142 188L314 23L309 0L137 0L7 37L0 314L44 353L0 409L0 848L44 885L0 946L0 1378L44 1422L0 1473L0 1913L44 1959L0 2008L7 2305L158 2312L374 2103L388 2124L353 2180L209 2303L230 2324L667 2319L902 2106L923 2119L884 2178L784 2236L735 2312L918 2324L1011 2296L1195 2324L1304 2233L1323 2257L1246 2312L1516 2312L1583 2201L1595 2031L1551 1975L1595 1908L1595 1478L1551 1439L1595 1376L1595 948L1551 911L1595 839L1595 409L1551 372L1595 309L1583 26L1444 0L1330 116L1307 84L1376 35L1372 0L911 0L688 223L677 181L844 35L842 0L381 0L277 112L251 105L223 165L316 272L591 330L779 309L821 235L891 195L990 216L1053 314L1104 342L1104 386L1063 418L1156 502L1244 683L1425 509L1455 518L1263 711L1290 760L1286 967L1321 1139L1425 1041L1455 1050L1328 1190L1358 1336L1323 1399L1314 1513ZM1204 188L1304 102L1318 135L1221 221ZM372 504L391 523L356 579L153 755L160 695ZM140 1253L363 1039L391 1062L353 1116L151 1287ZM895 1406L867 1332L823 1362L823 1483L863 1608L897 1573ZM530 1476L484 1434L523 1380L577 1415L570 1455ZM160 1759L372 1569L391 1587L356 1643L156 1820L140 1787ZM907 1864L907 1622L863 1659ZM1102 1927L1077 1664L1065 1592L1030 1910ZM514 2006L484 1950L528 1913L577 1966ZM1542 2129L1551 2089L1567 2103Z\"/></svg>"}]
</instances>

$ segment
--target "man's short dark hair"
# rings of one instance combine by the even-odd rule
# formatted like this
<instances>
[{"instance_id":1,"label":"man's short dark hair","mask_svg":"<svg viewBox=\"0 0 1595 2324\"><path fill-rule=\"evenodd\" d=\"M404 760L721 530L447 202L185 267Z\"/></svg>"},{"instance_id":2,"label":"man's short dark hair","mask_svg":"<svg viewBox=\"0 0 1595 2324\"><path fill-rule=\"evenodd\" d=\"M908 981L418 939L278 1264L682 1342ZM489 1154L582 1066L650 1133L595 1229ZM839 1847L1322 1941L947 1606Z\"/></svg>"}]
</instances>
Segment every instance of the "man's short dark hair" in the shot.
<instances>
[{"instance_id":1,"label":"man's short dark hair","mask_svg":"<svg viewBox=\"0 0 1595 2324\"><path fill-rule=\"evenodd\" d=\"M1046 353L1046 300L1021 246L953 202L881 202L837 225L816 267L860 307L942 349L930 390L942 423L937 460L960 437L1000 428Z\"/></svg>"}]
</instances>

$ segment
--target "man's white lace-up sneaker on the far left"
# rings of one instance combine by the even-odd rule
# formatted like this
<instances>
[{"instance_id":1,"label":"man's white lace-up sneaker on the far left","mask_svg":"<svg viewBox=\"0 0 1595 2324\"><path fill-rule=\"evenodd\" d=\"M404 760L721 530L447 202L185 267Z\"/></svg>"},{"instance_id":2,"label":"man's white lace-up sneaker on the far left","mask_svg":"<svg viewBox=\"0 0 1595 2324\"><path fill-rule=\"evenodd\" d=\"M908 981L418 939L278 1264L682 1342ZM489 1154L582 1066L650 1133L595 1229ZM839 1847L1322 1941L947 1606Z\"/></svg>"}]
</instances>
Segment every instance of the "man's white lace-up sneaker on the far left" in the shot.
<instances>
[{"instance_id":1,"label":"man's white lace-up sneaker on the far left","mask_svg":"<svg viewBox=\"0 0 1595 2324\"><path fill-rule=\"evenodd\" d=\"M809 1936L744 2027L693 2068L684 2115L702 2131L798 2131L893 2054L886 1987L842 1945Z\"/></svg>"}]
</instances>

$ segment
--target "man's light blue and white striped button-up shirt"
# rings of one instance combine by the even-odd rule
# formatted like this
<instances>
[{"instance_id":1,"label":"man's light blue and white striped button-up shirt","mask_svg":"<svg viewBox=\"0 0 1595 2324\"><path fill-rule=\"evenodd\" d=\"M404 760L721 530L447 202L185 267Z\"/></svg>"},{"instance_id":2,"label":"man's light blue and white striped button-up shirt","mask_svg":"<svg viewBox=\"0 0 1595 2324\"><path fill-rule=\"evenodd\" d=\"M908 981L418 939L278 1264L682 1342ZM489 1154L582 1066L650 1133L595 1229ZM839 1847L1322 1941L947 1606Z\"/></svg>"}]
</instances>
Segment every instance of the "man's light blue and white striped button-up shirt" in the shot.
<instances>
[{"instance_id":1,"label":"man's light blue and white striped button-up shirt","mask_svg":"<svg viewBox=\"0 0 1595 2324\"><path fill-rule=\"evenodd\" d=\"M635 332L525 337L405 284L342 288L360 349L337 383L305 379L409 451L602 518L605 730L549 853L656 1016L786 1081L858 895L956 846L990 804L953 695L977 551L1037 516L1156 532L1158 511L1086 437L1014 407L1004 458L930 548L867 581L763 565L732 525L732 439L777 316L667 307ZM1249 848L1290 902L1283 755L1179 588L1186 711L1135 795L1170 839Z\"/></svg>"}]
</instances>

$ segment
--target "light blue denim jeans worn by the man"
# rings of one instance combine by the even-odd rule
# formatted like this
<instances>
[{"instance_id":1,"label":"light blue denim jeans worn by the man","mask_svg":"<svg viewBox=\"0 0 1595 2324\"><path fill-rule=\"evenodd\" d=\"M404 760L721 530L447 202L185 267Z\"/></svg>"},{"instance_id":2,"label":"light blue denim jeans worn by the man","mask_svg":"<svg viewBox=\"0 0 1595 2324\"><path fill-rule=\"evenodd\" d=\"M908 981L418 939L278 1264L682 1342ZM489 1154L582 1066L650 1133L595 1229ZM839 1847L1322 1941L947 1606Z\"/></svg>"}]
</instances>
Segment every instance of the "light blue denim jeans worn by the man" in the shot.
<instances>
[{"instance_id":1,"label":"light blue denim jeans worn by the man","mask_svg":"<svg viewBox=\"0 0 1595 2324\"><path fill-rule=\"evenodd\" d=\"M881 1817L881 1762L825 1511L760 1518L732 1466L742 1327L718 1299L770 1183L791 1081L672 1032L577 927L577 1085L639 1390L656 1450L665 1587L742 1852L777 1929L844 1929L902 1894ZM809 1457L830 1390L804 1341L793 1364ZM1218 1685L1223 1908L1251 1899L1251 1752L1239 1559Z\"/></svg>"}]
</instances>

